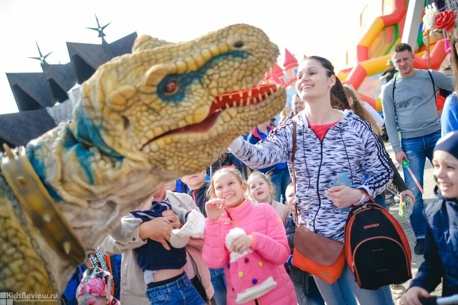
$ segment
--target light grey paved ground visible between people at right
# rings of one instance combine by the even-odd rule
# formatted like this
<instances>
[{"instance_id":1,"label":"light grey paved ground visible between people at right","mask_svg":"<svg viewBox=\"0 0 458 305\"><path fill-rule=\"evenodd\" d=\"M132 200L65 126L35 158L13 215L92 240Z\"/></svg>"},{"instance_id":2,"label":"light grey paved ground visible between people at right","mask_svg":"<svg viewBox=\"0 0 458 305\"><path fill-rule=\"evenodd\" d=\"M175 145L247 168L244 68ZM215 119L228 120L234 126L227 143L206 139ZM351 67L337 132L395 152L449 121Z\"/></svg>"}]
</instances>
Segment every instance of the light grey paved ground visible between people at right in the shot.
<instances>
[{"instance_id":1,"label":"light grey paved ground visible between people at right","mask_svg":"<svg viewBox=\"0 0 458 305\"><path fill-rule=\"evenodd\" d=\"M391 156L391 159L394 161L394 163L396 164L396 161L394 159L394 153L393 153L393 149L391 148L391 144L388 142L385 144L385 147L388 151L388 153L390 154ZM399 173L403 175L403 171L400 170ZM426 166L425 166L425 170L424 170L424 184L423 184L423 190L424 190L424 194L423 194L423 200L424 200L424 203L425 204L428 204L430 203L432 200L435 199L435 196L434 196L434 187L435 187L435 182L434 182L434 179L433 179L433 167L431 165L431 163L429 161L426 161ZM398 198L396 198L397 200ZM411 248L411 251L412 251L412 276L415 277L415 274L417 273L418 271L418 267L420 266L421 262L423 261L423 255L416 255L413 251L413 248L415 246L415 235L413 233L413 230L412 230L412 227L410 225L410 221L408 219L406 220L402 220L400 218L400 216L398 215L398 209L399 209L399 204L396 203L395 205L392 205L390 206L390 212L391 214L397 219L397 221L401 224L401 226L403 227L404 229L404 232L406 233L407 235L407 238L409 239L409 243L410 243L410 248ZM407 283L404 284L404 286L406 288L409 287L409 284L410 284L410 281L408 281ZM440 284L436 290L432 293L433 295L441 295L442 294L442 284ZM393 300L396 300L400 297L400 295L394 295L393 294Z\"/></svg>"}]
</instances>

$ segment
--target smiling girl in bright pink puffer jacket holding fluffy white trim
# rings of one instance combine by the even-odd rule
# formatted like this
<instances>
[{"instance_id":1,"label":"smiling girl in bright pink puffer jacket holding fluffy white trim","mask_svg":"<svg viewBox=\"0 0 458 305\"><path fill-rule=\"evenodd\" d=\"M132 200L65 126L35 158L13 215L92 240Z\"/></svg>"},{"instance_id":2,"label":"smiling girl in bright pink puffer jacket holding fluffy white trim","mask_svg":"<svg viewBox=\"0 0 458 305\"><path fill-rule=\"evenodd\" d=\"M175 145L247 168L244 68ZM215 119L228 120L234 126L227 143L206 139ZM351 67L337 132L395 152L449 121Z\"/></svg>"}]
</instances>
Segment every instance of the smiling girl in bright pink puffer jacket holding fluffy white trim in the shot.
<instances>
[{"instance_id":1,"label":"smiling girl in bright pink puffer jacket holding fluffy white trim","mask_svg":"<svg viewBox=\"0 0 458 305\"><path fill-rule=\"evenodd\" d=\"M228 304L297 304L283 266L290 256L283 221L268 203L251 204L246 191L237 169L213 174L207 193L212 199L205 204L204 261L210 268L224 267Z\"/></svg>"}]
</instances>

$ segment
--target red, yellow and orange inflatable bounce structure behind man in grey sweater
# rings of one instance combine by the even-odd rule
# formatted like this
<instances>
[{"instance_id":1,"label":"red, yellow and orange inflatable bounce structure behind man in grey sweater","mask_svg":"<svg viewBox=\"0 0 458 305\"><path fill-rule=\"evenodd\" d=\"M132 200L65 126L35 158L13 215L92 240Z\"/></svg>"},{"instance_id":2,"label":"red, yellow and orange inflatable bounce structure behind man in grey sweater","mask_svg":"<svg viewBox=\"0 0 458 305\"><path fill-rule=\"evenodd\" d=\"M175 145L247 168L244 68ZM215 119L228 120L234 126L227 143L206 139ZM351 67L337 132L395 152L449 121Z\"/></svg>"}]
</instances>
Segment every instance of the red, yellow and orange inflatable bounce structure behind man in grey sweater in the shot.
<instances>
[{"instance_id":1,"label":"red, yellow and orange inflatable bounce structure behind man in grey sweater","mask_svg":"<svg viewBox=\"0 0 458 305\"><path fill-rule=\"evenodd\" d=\"M337 73L343 83L353 85L361 99L377 111L382 110L379 95L383 81L380 81L379 77L387 69L391 50L401 42L408 2L408 0L371 1L360 15L363 32L357 46L347 51L347 68ZM447 9L444 1L425 1L424 7L432 3L435 3L439 12ZM443 31L424 30L421 22L418 28L417 45L412 45L412 49L416 50L414 68L438 70L442 65L448 65L446 38Z\"/></svg>"}]
</instances>

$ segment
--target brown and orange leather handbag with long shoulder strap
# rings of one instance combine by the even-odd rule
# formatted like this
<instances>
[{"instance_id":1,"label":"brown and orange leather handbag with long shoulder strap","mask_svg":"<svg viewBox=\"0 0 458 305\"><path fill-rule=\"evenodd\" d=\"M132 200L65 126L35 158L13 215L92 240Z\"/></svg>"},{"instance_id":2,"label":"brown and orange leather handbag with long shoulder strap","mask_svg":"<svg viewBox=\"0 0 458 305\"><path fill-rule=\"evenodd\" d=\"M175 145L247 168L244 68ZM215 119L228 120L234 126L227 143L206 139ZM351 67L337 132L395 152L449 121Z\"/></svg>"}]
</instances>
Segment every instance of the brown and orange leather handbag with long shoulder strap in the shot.
<instances>
[{"instance_id":1,"label":"brown and orange leather handbag with long shoulder strap","mask_svg":"<svg viewBox=\"0 0 458 305\"><path fill-rule=\"evenodd\" d=\"M291 163L293 168L293 184L296 193L296 155L297 123L293 121L293 151ZM294 234L293 265L332 284L341 275L345 267L344 243L314 233L302 225L298 225L296 207L296 233Z\"/></svg>"}]
</instances>

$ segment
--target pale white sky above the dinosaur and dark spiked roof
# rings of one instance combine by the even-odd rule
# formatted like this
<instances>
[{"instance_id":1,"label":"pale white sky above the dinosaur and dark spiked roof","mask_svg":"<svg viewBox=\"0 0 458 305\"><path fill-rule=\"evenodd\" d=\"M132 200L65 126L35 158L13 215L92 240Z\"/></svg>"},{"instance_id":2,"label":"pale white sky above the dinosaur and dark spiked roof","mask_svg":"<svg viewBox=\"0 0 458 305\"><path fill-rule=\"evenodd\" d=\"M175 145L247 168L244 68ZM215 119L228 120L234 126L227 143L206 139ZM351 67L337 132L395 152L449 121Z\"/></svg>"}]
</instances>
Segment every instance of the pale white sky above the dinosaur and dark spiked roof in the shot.
<instances>
[{"instance_id":1,"label":"pale white sky above the dinosaur and dark spiked roof","mask_svg":"<svg viewBox=\"0 0 458 305\"><path fill-rule=\"evenodd\" d=\"M1 0L0 114L17 112L6 72L42 72L35 41L49 64L70 61L66 42L100 44L86 27L108 25L108 43L130 33L170 42L192 40L235 23L257 26L276 43L283 63L284 48L299 60L306 55L330 59L336 68L345 50L356 48L361 35L359 15L370 0Z\"/></svg>"}]
</instances>

